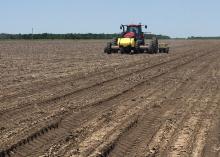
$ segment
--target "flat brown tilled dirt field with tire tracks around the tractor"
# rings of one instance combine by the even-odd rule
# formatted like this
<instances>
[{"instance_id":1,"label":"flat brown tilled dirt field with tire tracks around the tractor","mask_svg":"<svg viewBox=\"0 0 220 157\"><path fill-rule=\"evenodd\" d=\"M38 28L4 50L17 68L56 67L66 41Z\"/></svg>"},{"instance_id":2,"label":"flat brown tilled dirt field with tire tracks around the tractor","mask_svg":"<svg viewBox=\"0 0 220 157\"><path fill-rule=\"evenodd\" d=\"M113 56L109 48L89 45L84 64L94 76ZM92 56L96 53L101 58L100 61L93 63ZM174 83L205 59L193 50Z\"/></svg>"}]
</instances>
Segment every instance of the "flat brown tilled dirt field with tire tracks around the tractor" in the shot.
<instances>
[{"instance_id":1,"label":"flat brown tilled dirt field with tire tracks around the tractor","mask_svg":"<svg viewBox=\"0 0 220 157\"><path fill-rule=\"evenodd\" d=\"M219 157L220 41L167 42L0 41L0 157Z\"/></svg>"}]
</instances>

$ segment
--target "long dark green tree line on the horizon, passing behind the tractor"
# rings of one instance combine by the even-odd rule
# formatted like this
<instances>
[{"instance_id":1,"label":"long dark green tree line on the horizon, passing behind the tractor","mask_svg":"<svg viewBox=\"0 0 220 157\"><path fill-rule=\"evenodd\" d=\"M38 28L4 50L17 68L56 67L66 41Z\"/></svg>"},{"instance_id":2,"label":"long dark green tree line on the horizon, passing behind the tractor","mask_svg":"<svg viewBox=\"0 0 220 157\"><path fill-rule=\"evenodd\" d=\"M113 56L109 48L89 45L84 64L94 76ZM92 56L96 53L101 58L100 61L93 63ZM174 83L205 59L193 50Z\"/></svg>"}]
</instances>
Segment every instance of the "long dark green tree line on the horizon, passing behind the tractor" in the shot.
<instances>
[{"instance_id":1,"label":"long dark green tree line on the horizon, passing behind the tractor","mask_svg":"<svg viewBox=\"0 0 220 157\"><path fill-rule=\"evenodd\" d=\"M42 34L0 34L0 39L112 39L118 37L119 34L94 34L94 33L68 33L68 34L52 34L52 33L42 33ZM152 34L145 35L146 39L151 39ZM159 39L170 39L166 35L156 35Z\"/></svg>"}]
</instances>

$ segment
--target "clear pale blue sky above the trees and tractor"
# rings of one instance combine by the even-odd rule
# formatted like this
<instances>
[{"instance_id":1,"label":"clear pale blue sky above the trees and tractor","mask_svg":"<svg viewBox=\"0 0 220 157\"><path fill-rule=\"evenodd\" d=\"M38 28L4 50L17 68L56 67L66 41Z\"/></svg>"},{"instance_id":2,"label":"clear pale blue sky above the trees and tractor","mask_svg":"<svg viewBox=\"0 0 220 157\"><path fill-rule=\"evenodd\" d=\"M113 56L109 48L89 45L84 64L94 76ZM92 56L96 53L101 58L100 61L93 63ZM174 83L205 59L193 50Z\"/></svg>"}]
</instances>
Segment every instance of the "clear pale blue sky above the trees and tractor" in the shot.
<instances>
[{"instance_id":1,"label":"clear pale blue sky above the trees and tractor","mask_svg":"<svg viewBox=\"0 0 220 157\"><path fill-rule=\"evenodd\" d=\"M220 36L219 0L0 0L0 33L118 33L121 24L171 37Z\"/></svg>"}]
</instances>

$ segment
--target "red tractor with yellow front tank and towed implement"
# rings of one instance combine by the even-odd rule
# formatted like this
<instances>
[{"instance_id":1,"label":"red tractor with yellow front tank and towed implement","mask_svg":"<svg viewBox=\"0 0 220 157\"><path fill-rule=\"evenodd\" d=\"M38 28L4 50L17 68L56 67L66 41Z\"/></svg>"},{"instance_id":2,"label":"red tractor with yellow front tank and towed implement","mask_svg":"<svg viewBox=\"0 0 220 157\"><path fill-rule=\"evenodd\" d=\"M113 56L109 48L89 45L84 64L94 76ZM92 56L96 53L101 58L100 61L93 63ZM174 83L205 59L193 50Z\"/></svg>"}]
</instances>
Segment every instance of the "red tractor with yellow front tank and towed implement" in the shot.
<instances>
[{"instance_id":1,"label":"red tractor with yellow front tank and towed implement","mask_svg":"<svg viewBox=\"0 0 220 157\"><path fill-rule=\"evenodd\" d=\"M107 43L104 52L111 53L168 53L169 46L166 43L158 43L156 35L153 35L150 42L145 41L142 27L147 29L146 25L132 24L121 25L122 33Z\"/></svg>"}]
</instances>

